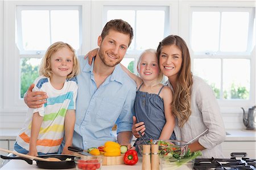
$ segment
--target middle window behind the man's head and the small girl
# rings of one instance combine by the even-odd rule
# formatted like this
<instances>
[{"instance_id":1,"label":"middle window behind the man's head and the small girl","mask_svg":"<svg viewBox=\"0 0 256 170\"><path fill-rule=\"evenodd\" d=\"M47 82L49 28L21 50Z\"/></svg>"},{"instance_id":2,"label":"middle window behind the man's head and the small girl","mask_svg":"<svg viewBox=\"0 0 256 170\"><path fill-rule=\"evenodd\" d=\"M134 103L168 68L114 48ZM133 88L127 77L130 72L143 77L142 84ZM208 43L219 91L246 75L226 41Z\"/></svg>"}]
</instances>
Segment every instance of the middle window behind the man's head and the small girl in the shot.
<instances>
[{"instance_id":1,"label":"middle window behind the man's head and the small girl","mask_svg":"<svg viewBox=\"0 0 256 170\"><path fill-rule=\"evenodd\" d=\"M104 14L104 25L118 16L134 29L133 41L121 61L133 73L137 73L134 65L137 65L140 53L148 48L156 49L170 32L169 10L165 6L105 6Z\"/></svg>"}]
</instances>

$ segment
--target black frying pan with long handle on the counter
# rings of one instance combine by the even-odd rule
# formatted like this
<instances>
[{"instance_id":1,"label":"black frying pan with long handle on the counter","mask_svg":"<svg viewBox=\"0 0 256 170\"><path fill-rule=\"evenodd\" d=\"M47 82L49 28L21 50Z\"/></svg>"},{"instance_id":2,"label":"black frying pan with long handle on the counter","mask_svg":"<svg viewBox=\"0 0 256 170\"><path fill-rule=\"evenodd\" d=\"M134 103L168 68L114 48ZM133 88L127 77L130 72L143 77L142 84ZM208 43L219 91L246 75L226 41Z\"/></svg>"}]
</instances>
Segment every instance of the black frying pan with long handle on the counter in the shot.
<instances>
[{"instance_id":1,"label":"black frying pan with long handle on the counter","mask_svg":"<svg viewBox=\"0 0 256 170\"><path fill-rule=\"evenodd\" d=\"M38 168L43 168L43 169L69 169L69 168L75 168L75 157L74 155L41 155L38 157L42 158L48 158L48 157L56 157L60 159L61 161L43 161L43 160L35 160L36 164L38 165ZM20 156L3 156L1 155L2 159L20 159L20 160L25 160L28 164L32 164L31 159L27 159L25 157L20 157ZM71 160L66 160L67 158L71 158Z\"/></svg>"}]
</instances>

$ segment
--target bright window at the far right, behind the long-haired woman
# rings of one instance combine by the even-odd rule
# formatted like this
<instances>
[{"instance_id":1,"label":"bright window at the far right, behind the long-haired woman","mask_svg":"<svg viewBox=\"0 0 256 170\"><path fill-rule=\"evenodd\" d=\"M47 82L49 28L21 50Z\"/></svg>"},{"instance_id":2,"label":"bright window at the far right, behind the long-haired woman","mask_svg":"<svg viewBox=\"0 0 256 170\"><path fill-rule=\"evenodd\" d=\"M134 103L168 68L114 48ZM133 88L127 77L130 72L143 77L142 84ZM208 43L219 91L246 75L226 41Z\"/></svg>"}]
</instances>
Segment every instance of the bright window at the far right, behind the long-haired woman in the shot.
<instances>
[{"instance_id":1,"label":"bright window at the far right, behind the long-haired woman","mask_svg":"<svg viewBox=\"0 0 256 170\"><path fill-rule=\"evenodd\" d=\"M254 98L254 9L192 7L193 73L212 86L220 101Z\"/></svg>"}]
</instances>

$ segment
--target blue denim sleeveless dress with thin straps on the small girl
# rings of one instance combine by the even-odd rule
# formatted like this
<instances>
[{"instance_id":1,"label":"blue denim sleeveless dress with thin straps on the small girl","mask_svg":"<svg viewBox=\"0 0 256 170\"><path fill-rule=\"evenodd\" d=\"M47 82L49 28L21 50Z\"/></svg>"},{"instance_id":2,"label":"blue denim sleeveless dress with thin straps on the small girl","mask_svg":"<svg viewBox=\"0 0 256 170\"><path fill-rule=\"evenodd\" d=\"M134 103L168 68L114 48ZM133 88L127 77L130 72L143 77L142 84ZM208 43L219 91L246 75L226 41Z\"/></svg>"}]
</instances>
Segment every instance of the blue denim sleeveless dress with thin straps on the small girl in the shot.
<instances>
[{"instance_id":1,"label":"blue denim sleeveless dress with thin straps on the small girl","mask_svg":"<svg viewBox=\"0 0 256 170\"><path fill-rule=\"evenodd\" d=\"M139 89L141 89L141 86L142 84L139 86ZM141 92L139 89L136 92L137 94L134 103L135 117L137 122L144 122L146 127L144 138L146 140L159 139L163 127L166 124L166 118L164 116L164 103L163 99L159 96L163 87L164 86L162 86L162 88L159 90L158 94ZM170 139L176 140L174 132L172 133ZM138 138L136 142L138 140L142 139ZM138 146L136 142L134 146L138 152Z\"/></svg>"}]
</instances>

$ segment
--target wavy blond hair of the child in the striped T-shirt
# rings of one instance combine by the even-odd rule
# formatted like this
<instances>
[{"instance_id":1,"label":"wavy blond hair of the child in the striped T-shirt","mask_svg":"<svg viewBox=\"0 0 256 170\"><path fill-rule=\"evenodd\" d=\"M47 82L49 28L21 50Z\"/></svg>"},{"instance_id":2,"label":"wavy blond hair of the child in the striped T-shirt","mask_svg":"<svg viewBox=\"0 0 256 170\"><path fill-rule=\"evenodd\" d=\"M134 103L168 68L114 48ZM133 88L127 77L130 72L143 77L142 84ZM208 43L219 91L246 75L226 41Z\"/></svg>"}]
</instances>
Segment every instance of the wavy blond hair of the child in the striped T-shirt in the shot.
<instances>
[{"instance_id":1,"label":"wavy blond hair of the child in the striped T-shirt","mask_svg":"<svg viewBox=\"0 0 256 170\"><path fill-rule=\"evenodd\" d=\"M61 48L69 48L71 50L71 52L73 53L73 69L72 72L68 74L67 78L72 78L77 76L77 74L79 74L80 72L80 67L79 67L79 63L77 60L77 56L75 53L75 49L73 49L71 47L71 45L67 44L67 43L63 43L63 42L56 42L53 43L52 45L50 45L46 51L46 55L44 55L41 64L40 64L40 68L39 68L39 74L40 76L46 76L46 77L51 77L52 74L52 69L51 69L51 56L53 55L53 53L59 51Z\"/></svg>"}]
</instances>

